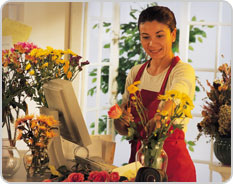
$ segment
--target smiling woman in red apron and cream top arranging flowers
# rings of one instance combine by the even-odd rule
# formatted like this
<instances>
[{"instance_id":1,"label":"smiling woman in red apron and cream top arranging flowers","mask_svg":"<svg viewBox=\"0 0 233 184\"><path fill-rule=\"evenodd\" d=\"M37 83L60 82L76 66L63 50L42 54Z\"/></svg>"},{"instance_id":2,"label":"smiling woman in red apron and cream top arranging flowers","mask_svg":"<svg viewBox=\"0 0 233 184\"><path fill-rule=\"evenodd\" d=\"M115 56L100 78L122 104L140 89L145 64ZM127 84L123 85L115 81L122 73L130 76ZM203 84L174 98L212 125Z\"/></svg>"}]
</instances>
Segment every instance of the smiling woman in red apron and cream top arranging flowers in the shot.
<instances>
[{"instance_id":1,"label":"smiling woman in red apron and cream top arranging flowers","mask_svg":"<svg viewBox=\"0 0 233 184\"><path fill-rule=\"evenodd\" d=\"M140 80L144 106L149 110L151 120L147 123L151 132L160 119L156 110L171 112L173 102L164 104L157 100L159 94L168 90L178 90L189 95L191 99L195 92L195 73L191 65L180 61L172 52L172 44L176 40L176 19L173 12L167 7L154 6L143 10L138 19L140 40L150 60L144 64L134 66L126 79L125 92L121 108L125 111L125 104L129 99L127 87L134 81ZM125 112L127 113L127 112ZM127 135L130 120L138 119L136 112L128 113L126 121L115 120L115 128L121 135ZM179 122L178 122L179 123ZM176 129L165 140L164 150L168 155L168 181L195 182L196 172L184 141L188 119L183 121L184 129ZM135 161L135 154L140 148L140 141L132 141L129 162Z\"/></svg>"}]
</instances>

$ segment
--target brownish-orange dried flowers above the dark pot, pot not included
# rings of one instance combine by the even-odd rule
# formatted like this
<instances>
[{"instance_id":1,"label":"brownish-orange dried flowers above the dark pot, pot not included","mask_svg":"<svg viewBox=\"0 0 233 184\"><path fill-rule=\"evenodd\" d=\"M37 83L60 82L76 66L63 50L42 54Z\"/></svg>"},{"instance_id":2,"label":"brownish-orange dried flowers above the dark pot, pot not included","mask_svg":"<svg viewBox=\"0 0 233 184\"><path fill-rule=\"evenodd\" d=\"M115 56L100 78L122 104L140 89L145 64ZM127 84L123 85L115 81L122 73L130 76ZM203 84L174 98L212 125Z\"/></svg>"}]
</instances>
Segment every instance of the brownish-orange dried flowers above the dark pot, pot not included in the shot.
<instances>
[{"instance_id":1,"label":"brownish-orange dried flowers above the dark pot, pot not included","mask_svg":"<svg viewBox=\"0 0 233 184\"><path fill-rule=\"evenodd\" d=\"M203 119L197 124L200 131L197 139L203 134L210 138L231 137L231 67L223 64L218 70L221 79L216 79L213 84L207 80L210 91L204 101Z\"/></svg>"}]
</instances>

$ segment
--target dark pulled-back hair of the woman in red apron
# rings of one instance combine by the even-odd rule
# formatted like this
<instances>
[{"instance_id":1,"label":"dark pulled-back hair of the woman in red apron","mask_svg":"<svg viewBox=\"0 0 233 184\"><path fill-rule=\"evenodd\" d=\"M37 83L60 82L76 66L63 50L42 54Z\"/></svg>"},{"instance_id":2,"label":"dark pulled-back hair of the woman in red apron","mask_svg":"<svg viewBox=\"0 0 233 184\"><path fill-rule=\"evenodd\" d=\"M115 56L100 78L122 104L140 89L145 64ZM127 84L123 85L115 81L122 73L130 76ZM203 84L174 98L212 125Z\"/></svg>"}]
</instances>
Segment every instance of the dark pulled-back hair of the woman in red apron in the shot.
<instances>
[{"instance_id":1,"label":"dark pulled-back hair of the woman in red apron","mask_svg":"<svg viewBox=\"0 0 233 184\"><path fill-rule=\"evenodd\" d=\"M139 15L138 30L141 23L147 21L152 22L154 20L166 24L171 32L176 28L175 15L169 8L164 6L152 6L143 10Z\"/></svg>"}]
</instances>

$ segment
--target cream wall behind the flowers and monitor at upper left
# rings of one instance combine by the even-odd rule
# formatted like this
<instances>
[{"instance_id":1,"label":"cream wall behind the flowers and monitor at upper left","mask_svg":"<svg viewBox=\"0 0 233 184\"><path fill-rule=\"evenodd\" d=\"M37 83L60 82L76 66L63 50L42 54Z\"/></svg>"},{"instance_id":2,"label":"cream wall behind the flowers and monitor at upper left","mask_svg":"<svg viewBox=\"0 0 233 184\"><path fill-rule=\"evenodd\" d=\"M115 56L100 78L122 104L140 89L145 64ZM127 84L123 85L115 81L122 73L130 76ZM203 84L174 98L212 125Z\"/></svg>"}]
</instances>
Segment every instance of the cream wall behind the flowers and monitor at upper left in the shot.
<instances>
[{"instance_id":1,"label":"cream wall behind the flowers and monitor at upper left","mask_svg":"<svg viewBox=\"0 0 233 184\"><path fill-rule=\"evenodd\" d=\"M81 52L82 3L80 2L25 2L7 3L2 9L2 18L10 18L32 27L28 42L41 48L51 46L54 49L70 48ZM6 43L3 37L3 45ZM9 40L9 39L7 39ZM10 44L12 46L12 43ZM74 86L77 86L75 83ZM27 100L29 113L38 114L36 104ZM7 137L6 128L2 137ZM17 142L19 149L27 149L24 142Z\"/></svg>"}]
</instances>

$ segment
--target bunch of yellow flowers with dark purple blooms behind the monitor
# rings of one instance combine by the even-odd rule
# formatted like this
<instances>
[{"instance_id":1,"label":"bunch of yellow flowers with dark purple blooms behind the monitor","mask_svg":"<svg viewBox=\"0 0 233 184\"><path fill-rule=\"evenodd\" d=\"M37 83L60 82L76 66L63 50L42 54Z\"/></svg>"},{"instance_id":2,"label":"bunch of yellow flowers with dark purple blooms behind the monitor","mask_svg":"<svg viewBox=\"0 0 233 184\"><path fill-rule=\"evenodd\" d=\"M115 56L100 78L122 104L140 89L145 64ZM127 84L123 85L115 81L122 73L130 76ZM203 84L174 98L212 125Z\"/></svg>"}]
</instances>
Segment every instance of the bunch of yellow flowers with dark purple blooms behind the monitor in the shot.
<instances>
[{"instance_id":1,"label":"bunch of yellow flowers with dark purple blooms behind the monitor","mask_svg":"<svg viewBox=\"0 0 233 184\"><path fill-rule=\"evenodd\" d=\"M33 100L45 107L48 105L42 88L44 83L55 78L72 81L82 67L89 64L89 61L81 62L82 57L70 49L35 48L30 52L30 57L32 59L27 63L26 70L31 74L30 79L34 84Z\"/></svg>"}]
</instances>

